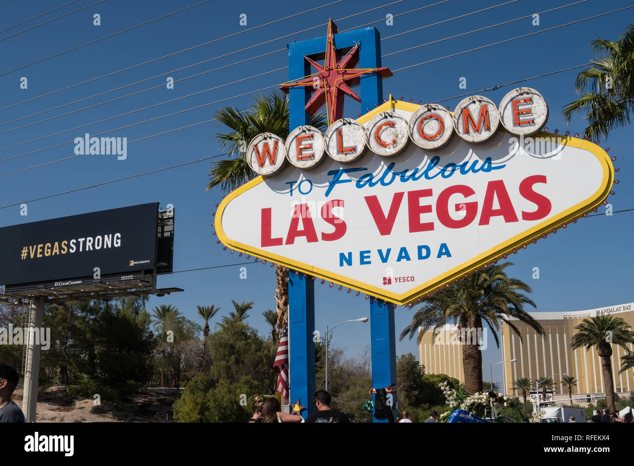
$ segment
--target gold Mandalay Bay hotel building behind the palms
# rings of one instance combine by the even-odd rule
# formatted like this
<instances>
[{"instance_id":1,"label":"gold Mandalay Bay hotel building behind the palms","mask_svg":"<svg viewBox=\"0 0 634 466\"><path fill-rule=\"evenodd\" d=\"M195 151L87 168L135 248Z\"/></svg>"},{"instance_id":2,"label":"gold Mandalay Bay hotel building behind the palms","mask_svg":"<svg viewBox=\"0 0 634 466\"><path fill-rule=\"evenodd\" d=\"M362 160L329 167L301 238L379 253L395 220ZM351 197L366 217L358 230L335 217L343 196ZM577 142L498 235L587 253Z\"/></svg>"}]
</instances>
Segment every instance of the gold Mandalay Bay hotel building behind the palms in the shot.
<instances>
[{"instance_id":1,"label":"gold Mandalay Bay hotel building behind the palms","mask_svg":"<svg viewBox=\"0 0 634 466\"><path fill-rule=\"evenodd\" d=\"M634 327L634 303L587 311L530 314L543 327L543 335L538 335L529 325L513 318L509 318L509 320L512 320L515 327L521 332L522 340L505 323L502 323L501 332L498 333L501 350L499 361L507 361L501 364L503 377L501 391L512 396L521 396L521 392L513 387L514 380L531 379L534 390L536 379L554 375L554 400L567 399L569 398L568 389L561 381L564 376L555 375L567 373L573 375L577 380L576 386L573 385L573 398L605 394L603 372L597 350L592 348L590 351L586 351L585 347L581 347L573 351L570 347L570 339L575 333L574 327L579 325L584 318L597 315L611 314ZM432 332L425 332L418 345L418 360L420 364L425 366L425 373L444 373L464 382L462 346L460 337L456 338L455 332L455 325L445 325L436 335ZM481 345L495 347L495 339L488 328L482 332ZM634 351L631 345L630 350ZM612 352L614 392L619 396L622 394L629 396L630 392L634 391L634 369L619 373L620 358L625 352L622 347L614 344L612 344ZM517 359L517 362L512 363L510 359ZM488 368L482 368L482 376L485 381L489 380ZM547 396L547 400L548 398ZM583 403L583 399L576 400L574 403Z\"/></svg>"}]
</instances>

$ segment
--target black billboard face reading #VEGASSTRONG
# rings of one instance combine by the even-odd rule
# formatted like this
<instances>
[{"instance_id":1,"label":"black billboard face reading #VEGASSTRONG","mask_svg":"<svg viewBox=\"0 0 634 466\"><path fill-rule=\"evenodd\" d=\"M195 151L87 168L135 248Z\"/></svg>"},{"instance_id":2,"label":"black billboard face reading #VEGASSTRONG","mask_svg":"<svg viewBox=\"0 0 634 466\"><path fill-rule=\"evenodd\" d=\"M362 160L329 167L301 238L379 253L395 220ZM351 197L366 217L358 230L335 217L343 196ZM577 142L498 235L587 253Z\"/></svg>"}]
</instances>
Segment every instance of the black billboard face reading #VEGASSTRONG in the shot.
<instances>
[{"instance_id":1,"label":"black billboard face reading #VEGASSTRONG","mask_svg":"<svg viewBox=\"0 0 634 466\"><path fill-rule=\"evenodd\" d=\"M0 285L153 269L158 215L153 202L0 228Z\"/></svg>"}]
</instances>

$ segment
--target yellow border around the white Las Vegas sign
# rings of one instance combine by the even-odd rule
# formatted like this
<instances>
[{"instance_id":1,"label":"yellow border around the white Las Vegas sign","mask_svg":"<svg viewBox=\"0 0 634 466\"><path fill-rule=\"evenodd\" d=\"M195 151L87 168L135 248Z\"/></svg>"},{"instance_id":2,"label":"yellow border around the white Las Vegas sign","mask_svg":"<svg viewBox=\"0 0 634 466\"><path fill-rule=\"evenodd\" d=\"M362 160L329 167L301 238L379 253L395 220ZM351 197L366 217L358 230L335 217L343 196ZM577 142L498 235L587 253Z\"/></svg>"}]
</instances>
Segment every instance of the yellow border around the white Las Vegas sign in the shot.
<instances>
[{"instance_id":1,"label":"yellow border around the white Las Vegas sign","mask_svg":"<svg viewBox=\"0 0 634 466\"><path fill-rule=\"evenodd\" d=\"M422 105L415 105L413 103L394 100L392 96L390 96L390 100L385 102L383 105L375 108L374 110L372 110L372 112L366 113L365 115L359 117L357 121L363 124L366 121L372 119L374 115L377 115L380 112L394 110L394 108L413 112L419 107L422 107ZM503 128L500 128L500 131L507 132ZM557 217L539 223L532 228L529 228L529 230L526 230L524 233L513 236L507 241L500 243L499 245L488 249L485 252L482 252L478 256L472 257L472 259L469 259L468 261L465 261L462 264L449 269L433 280L422 283L421 285L418 285L417 287L412 288L411 290L408 290L403 294L387 292L380 288L373 287L372 285L368 285L368 283L363 283L359 282L358 280L346 278L336 273L329 272L325 269L320 269L309 264L304 264L304 262L294 261L292 259L288 259L287 257L278 256L278 254L272 254L271 252L258 249L257 247L251 247L249 245L231 240L224 233L222 226L224 209L231 202L231 200L235 199L245 191L250 190L254 186L257 186L257 184L262 183L262 181L264 181L264 177L262 176L259 176L256 179L249 181L249 183L240 186L240 188L237 188L223 199L223 202L221 202L216 212L216 233L221 242L223 242L224 245L226 245L227 247L231 247L232 249L247 252L247 254L253 254L256 257L261 257L262 259L266 259L267 261L287 266L288 268L307 273L308 275L318 276L320 278L323 278L324 280L330 280L332 282L339 283L346 287L353 288L354 290L364 292L377 298L384 299L389 302L394 302L395 304L406 304L417 299L418 297L436 292L441 287L449 286L450 282L455 282L455 280L460 280L461 278L464 278L465 274L472 273L475 269L479 269L485 264L488 265L496 259L502 259L503 254L508 255L512 253L513 250L521 249L523 246L526 246L528 243L532 242L533 239L541 238L542 235L553 233L553 231L562 228L564 224L569 223L573 219L581 217L583 216L583 214L592 211L592 209L600 205L609 195L609 192L612 189L612 183L614 183L614 167L612 167L612 162L610 158L602 148L591 143L590 141L586 141L585 139L571 138L569 136L559 136L559 134L538 133L533 137L566 139L567 146L586 150L595 155L603 168L602 187L599 188L597 192L595 192L591 197L583 200L582 202L579 202L576 205L573 205L573 207L571 207L570 209L564 210L564 212L561 212Z\"/></svg>"}]
</instances>

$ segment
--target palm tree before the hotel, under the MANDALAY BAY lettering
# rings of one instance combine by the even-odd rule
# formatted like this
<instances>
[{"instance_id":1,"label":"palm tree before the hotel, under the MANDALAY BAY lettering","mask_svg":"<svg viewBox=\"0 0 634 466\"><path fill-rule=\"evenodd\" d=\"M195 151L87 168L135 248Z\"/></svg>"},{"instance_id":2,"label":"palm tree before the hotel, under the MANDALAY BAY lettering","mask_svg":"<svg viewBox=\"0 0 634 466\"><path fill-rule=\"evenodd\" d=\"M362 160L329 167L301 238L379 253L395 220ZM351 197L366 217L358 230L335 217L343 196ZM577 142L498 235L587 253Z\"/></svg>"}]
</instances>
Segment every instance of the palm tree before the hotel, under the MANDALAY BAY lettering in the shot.
<instances>
[{"instance_id":1,"label":"palm tree before the hotel, under the MANDALAY BAY lettering","mask_svg":"<svg viewBox=\"0 0 634 466\"><path fill-rule=\"evenodd\" d=\"M617 344L625 351L627 343L634 342L634 333L629 329L630 325L619 317L609 314L586 318L577 325L575 333L570 339L572 349L585 346L588 351L593 346L597 348L598 357L601 358L603 380L605 384L605 402L612 412L614 409L614 380L612 379L612 344Z\"/></svg>"}]
</instances>

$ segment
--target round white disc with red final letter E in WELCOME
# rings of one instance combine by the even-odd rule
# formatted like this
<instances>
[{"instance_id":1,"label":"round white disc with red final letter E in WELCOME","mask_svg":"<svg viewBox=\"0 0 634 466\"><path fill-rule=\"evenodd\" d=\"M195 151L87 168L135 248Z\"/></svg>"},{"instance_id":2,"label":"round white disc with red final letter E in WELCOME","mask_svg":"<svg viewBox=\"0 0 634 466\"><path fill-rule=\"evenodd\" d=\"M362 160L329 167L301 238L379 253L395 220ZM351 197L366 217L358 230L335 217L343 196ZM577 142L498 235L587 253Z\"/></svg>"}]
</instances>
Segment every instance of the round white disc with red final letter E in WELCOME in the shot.
<instances>
[{"instance_id":1,"label":"round white disc with red final letter E in WELCOME","mask_svg":"<svg viewBox=\"0 0 634 466\"><path fill-rule=\"evenodd\" d=\"M509 133L532 136L548 122L548 104L535 89L518 87L500 102L500 119Z\"/></svg>"}]
</instances>

